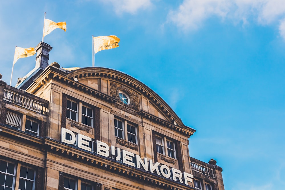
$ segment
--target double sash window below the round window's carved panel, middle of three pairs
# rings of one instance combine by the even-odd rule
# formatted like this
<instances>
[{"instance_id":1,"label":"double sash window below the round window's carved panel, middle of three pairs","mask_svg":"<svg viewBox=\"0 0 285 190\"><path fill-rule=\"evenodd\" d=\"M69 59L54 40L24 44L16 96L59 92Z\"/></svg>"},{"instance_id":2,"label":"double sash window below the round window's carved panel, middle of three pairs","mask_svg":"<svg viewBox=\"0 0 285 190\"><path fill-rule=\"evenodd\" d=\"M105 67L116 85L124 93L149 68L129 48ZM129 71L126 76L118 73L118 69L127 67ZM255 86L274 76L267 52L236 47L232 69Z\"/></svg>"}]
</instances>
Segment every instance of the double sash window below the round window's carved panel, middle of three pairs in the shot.
<instances>
[{"instance_id":1,"label":"double sash window below the round window's carved panel, middle of three pairs","mask_svg":"<svg viewBox=\"0 0 285 190\"><path fill-rule=\"evenodd\" d=\"M133 124L127 123L127 121L121 121L118 119L114 119L115 126L115 136L121 139L125 139L127 137L127 141L137 144L137 126ZM127 126L127 131L125 131L125 126Z\"/></svg>"}]
</instances>

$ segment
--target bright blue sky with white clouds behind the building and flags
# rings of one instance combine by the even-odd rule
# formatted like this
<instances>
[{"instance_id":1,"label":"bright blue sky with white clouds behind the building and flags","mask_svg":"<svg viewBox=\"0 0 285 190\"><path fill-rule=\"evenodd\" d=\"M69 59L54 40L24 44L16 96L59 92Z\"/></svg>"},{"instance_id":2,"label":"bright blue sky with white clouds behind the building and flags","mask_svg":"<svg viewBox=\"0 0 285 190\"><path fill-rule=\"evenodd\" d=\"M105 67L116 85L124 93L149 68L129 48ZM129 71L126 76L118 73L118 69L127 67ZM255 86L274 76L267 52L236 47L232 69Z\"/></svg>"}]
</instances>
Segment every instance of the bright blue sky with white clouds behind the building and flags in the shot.
<instances>
[{"instance_id":1,"label":"bright blue sky with white clouds behind the building and flags","mask_svg":"<svg viewBox=\"0 0 285 190\"><path fill-rule=\"evenodd\" d=\"M190 156L223 168L226 190L284 190L284 0L3 1L0 73L10 83L15 46L35 47L46 19L66 21L44 42L49 63L92 66L92 35L119 47L95 66L122 71L154 90L197 130ZM35 67L14 66L12 85Z\"/></svg>"}]
</instances>

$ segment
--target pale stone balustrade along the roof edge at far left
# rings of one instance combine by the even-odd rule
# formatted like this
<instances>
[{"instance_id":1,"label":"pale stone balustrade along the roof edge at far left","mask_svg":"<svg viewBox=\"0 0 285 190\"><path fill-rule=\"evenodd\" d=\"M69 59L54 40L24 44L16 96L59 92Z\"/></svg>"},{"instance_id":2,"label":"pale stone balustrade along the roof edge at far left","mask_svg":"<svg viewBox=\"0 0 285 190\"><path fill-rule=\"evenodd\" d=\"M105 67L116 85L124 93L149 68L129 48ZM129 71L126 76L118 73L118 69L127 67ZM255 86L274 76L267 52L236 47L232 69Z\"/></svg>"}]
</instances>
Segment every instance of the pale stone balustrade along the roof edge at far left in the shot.
<instances>
[{"instance_id":1,"label":"pale stone balustrade along the roof edge at far left","mask_svg":"<svg viewBox=\"0 0 285 190\"><path fill-rule=\"evenodd\" d=\"M36 100L35 98L25 96L11 89L4 89L3 100L17 104L21 107L27 108L43 115L46 115L48 111L48 105Z\"/></svg>"}]
</instances>

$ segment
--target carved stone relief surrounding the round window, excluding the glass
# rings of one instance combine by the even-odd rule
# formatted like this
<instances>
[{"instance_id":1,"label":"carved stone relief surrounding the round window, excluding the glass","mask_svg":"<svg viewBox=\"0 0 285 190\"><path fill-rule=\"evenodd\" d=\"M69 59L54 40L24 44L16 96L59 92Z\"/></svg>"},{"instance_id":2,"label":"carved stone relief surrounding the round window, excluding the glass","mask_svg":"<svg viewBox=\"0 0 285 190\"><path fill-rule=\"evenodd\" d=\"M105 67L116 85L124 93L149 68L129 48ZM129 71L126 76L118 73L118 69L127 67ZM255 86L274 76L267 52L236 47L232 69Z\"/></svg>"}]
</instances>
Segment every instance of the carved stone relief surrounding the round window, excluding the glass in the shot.
<instances>
[{"instance_id":1,"label":"carved stone relief surrounding the round window, excluding the glass","mask_svg":"<svg viewBox=\"0 0 285 190\"><path fill-rule=\"evenodd\" d=\"M125 86L119 86L115 83L112 83L110 82L110 86L111 86L111 89L110 89L110 95L117 99L117 103L125 106L125 107L128 107L130 109L133 109L135 111L139 111L140 110L140 101L139 101L139 95L133 91L130 91L127 87ZM120 101L120 97L119 97L119 91L126 91L129 95L130 95L130 104L127 105L127 104L124 104L122 101Z\"/></svg>"}]
</instances>

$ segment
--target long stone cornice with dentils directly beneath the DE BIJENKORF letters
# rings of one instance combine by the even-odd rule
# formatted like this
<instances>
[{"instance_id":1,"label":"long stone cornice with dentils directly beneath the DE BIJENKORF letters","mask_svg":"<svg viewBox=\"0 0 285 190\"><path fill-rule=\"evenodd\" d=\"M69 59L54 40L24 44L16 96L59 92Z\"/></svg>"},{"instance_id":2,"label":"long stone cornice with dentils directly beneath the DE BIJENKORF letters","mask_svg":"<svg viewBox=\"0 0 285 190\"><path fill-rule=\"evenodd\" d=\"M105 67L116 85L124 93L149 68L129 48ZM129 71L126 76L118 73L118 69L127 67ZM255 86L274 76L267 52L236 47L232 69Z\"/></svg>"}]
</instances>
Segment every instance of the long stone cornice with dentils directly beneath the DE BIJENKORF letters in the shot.
<instances>
[{"instance_id":1,"label":"long stone cornice with dentils directly beneath the DE BIJENKORF letters","mask_svg":"<svg viewBox=\"0 0 285 190\"><path fill-rule=\"evenodd\" d=\"M138 169L127 166L123 163L114 162L114 160L111 158L105 158L99 155L91 154L89 152L70 147L66 144L49 138L44 139L44 145L47 152L63 156L66 159L74 160L75 162L88 164L89 166L97 167L111 173L116 173L131 180L136 180L142 184L147 183L148 185L152 185L157 188L171 190L194 189L177 181L148 173L143 169Z\"/></svg>"}]
</instances>

